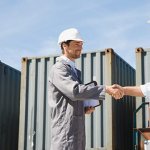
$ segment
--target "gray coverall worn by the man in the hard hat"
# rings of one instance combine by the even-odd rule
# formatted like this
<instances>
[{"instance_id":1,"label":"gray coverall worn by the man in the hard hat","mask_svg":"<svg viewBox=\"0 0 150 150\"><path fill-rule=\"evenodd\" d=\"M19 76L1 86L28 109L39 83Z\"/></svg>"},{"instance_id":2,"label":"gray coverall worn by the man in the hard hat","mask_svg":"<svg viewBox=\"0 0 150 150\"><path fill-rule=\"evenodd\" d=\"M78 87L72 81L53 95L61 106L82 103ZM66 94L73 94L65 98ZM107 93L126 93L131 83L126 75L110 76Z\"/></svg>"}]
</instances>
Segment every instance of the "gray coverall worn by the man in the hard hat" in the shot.
<instances>
[{"instance_id":1,"label":"gray coverall worn by the man in the hard hat","mask_svg":"<svg viewBox=\"0 0 150 150\"><path fill-rule=\"evenodd\" d=\"M104 86L81 84L79 70L77 74L61 57L50 70L51 150L85 150L83 101L105 98Z\"/></svg>"}]
</instances>

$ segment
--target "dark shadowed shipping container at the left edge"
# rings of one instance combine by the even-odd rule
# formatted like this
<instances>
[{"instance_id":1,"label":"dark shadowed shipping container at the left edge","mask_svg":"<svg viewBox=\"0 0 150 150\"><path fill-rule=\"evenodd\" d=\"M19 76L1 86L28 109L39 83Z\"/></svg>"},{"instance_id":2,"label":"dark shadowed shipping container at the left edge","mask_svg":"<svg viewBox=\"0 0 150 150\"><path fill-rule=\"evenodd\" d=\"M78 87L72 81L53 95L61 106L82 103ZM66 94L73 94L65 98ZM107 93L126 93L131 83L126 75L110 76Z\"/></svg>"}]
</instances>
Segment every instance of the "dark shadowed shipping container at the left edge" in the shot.
<instances>
[{"instance_id":1,"label":"dark shadowed shipping container at the left edge","mask_svg":"<svg viewBox=\"0 0 150 150\"><path fill-rule=\"evenodd\" d=\"M0 150L18 149L21 72L0 61Z\"/></svg>"}]
</instances>

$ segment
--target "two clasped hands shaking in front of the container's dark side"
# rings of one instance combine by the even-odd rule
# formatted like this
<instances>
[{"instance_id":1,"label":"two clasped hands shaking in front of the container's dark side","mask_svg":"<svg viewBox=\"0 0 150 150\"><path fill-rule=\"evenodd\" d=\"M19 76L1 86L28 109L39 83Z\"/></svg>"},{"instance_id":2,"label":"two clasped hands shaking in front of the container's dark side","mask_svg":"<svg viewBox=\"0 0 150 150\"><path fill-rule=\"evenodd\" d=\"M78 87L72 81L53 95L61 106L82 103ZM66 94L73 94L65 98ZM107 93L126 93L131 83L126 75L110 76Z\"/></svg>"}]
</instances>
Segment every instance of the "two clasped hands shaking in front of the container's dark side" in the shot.
<instances>
[{"instance_id":1,"label":"two clasped hands shaking in front of the container's dark side","mask_svg":"<svg viewBox=\"0 0 150 150\"><path fill-rule=\"evenodd\" d=\"M120 99L125 95L124 88L118 84L106 86L106 93L108 93L115 99Z\"/></svg>"}]
</instances>

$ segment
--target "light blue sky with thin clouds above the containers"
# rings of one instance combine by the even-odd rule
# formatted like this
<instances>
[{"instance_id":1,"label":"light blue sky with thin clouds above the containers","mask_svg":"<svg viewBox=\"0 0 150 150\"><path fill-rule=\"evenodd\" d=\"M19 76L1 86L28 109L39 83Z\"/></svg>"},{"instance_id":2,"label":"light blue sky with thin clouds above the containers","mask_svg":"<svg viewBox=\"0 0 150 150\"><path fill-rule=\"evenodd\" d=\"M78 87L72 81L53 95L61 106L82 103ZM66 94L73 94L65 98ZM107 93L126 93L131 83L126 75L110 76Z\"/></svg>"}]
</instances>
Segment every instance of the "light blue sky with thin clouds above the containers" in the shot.
<instances>
[{"instance_id":1,"label":"light blue sky with thin clouds above the containers","mask_svg":"<svg viewBox=\"0 0 150 150\"><path fill-rule=\"evenodd\" d=\"M113 48L135 67L135 48L150 48L149 0L1 0L0 60L61 54L59 33L77 28L83 52Z\"/></svg>"}]
</instances>

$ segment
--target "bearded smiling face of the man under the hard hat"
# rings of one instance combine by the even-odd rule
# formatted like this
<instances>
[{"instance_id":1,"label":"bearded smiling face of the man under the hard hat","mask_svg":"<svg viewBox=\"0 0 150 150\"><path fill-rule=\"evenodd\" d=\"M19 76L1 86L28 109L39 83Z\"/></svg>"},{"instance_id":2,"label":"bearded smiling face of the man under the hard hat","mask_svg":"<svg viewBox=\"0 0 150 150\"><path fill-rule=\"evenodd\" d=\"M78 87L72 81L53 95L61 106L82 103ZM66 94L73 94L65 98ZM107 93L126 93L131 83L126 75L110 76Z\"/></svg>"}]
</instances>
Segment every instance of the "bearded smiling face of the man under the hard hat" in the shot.
<instances>
[{"instance_id":1,"label":"bearded smiling face of the man under the hard hat","mask_svg":"<svg viewBox=\"0 0 150 150\"><path fill-rule=\"evenodd\" d=\"M82 41L71 41L69 45L64 45L65 55L70 60L75 60L80 57L82 51Z\"/></svg>"}]
</instances>

